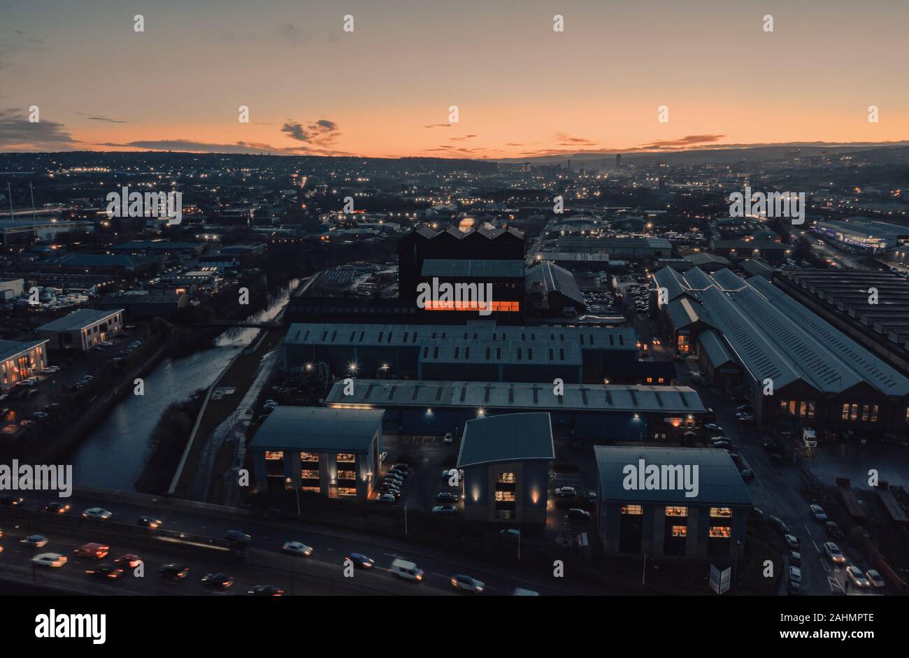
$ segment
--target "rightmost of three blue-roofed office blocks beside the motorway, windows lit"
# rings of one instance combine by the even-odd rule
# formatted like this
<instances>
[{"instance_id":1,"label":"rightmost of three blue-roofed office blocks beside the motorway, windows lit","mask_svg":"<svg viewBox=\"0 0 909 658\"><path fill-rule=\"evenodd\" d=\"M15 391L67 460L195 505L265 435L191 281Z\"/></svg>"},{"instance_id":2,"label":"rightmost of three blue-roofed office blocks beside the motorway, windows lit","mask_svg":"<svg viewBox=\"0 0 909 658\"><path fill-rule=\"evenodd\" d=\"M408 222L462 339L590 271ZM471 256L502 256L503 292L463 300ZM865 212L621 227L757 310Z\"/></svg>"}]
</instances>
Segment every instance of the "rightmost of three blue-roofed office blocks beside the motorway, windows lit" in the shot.
<instances>
[{"instance_id":1,"label":"rightmost of three blue-roofed office blocks beside the motorway, windows lit","mask_svg":"<svg viewBox=\"0 0 909 658\"><path fill-rule=\"evenodd\" d=\"M753 506L724 450L594 446L606 555L733 559Z\"/></svg>"}]
</instances>

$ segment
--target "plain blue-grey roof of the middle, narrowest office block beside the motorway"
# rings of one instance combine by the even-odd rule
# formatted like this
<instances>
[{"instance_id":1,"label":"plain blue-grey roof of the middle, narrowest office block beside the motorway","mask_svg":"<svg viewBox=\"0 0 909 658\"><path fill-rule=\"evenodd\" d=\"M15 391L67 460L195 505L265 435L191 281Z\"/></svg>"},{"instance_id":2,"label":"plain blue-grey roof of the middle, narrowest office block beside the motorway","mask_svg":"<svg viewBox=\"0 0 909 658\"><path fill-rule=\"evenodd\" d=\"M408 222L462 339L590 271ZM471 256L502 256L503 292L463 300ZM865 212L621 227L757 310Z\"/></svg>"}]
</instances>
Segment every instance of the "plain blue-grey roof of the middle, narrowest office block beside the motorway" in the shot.
<instances>
[{"instance_id":1,"label":"plain blue-grey roof of the middle, narrowest office block beside the motorway","mask_svg":"<svg viewBox=\"0 0 909 658\"><path fill-rule=\"evenodd\" d=\"M549 414L499 414L464 424L457 467L554 459Z\"/></svg>"}]
</instances>

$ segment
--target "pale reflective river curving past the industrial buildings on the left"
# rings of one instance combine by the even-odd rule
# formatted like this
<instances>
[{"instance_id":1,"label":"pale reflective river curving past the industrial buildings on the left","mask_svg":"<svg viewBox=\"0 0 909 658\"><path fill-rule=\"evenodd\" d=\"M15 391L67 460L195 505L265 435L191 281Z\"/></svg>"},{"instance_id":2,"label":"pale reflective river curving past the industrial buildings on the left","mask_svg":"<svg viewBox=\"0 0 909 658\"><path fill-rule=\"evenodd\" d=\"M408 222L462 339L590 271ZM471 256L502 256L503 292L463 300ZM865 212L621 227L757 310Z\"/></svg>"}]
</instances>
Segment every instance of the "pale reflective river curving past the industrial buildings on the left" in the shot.
<instances>
[{"instance_id":1,"label":"pale reflective river curving past the industrial buildings on the left","mask_svg":"<svg viewBox=\"0 0 909 658\"><path fill-rule=\"evenodd\" d=\"M268 307L249 320L274 320L297 284L294 280L271 295ZM127 395L75 449L70 461L76 486L135 491L135 481L151 452L149 439L167 406L208 388L256 334L257 329L228 329L209 349L179 359L165 358L145 376L145 395Z\"/></svg>"}]
</instances>

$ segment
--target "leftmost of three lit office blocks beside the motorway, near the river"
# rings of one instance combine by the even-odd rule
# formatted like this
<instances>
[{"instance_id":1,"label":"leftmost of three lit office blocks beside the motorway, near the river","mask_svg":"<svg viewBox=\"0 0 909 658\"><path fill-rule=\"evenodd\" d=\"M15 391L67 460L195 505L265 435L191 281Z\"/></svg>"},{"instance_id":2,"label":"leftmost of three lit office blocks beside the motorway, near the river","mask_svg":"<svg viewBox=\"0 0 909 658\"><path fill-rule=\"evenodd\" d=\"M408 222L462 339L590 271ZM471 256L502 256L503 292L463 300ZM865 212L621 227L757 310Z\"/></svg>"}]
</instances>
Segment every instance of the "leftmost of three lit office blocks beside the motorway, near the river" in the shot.
<instances>
[{"instance_id":1,"label":"leftmost of three lit office blocks beside the motorway, near the river","mask_svg":"<svg viewBox=\"0 0 909 658\"><path fill-rule=\"evenodd\" d=\"M249 444L255 484L366 500L379 481L382 411L280 406Z\"/></svg>"}]
</instances>

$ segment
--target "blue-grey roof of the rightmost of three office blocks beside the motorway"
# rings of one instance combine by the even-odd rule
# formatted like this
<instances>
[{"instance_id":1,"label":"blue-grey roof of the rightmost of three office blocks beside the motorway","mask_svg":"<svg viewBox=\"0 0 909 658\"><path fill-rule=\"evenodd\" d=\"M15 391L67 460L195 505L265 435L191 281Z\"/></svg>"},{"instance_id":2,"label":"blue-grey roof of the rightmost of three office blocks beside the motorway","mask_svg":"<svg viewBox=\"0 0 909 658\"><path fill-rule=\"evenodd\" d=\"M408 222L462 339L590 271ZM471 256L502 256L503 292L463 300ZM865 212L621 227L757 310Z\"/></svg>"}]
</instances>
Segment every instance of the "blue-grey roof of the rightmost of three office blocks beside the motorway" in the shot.
<instances>
[{"instance_id":1,"label":"blue-grey roof of the rightmost of three office blocks beside the motorway","mask_svg":"<svg viewBox=\"0 0 909 658\"><path fill-rule=\"evenodd\" d=\"M751 505L751 495L732 458L724 450L711 448L658 448L594 445L600 476L600 501ZM674 489L626 489L626 466L697 466L697 495L688 498L678 486ZM694 474L694 471L692 471Z\"/></svg>"}]
</instances>

